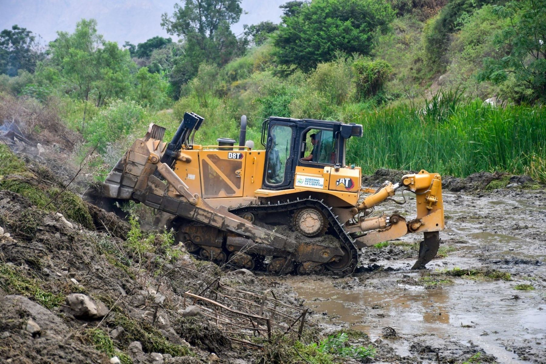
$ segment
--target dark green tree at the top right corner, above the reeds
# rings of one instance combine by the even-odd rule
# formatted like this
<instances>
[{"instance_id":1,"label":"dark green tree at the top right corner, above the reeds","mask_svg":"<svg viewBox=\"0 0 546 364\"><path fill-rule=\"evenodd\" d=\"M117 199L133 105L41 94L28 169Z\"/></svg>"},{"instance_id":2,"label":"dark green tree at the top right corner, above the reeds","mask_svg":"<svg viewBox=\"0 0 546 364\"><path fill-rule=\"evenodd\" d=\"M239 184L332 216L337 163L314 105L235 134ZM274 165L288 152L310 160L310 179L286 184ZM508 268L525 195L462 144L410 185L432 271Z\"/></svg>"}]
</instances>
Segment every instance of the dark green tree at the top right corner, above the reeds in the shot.
<instances>
[{"instance_id":1,"label":"dark green tree at the top right corner, above the reeds","mask_svg":"<svg viewBox=\"0 0 546 364\"><path fill-rule=\"evenodd\" d=\"M500 59L485 58L479 79L503 83L512 76L531 89L530 101L546 100L546 0L512 1L494 11L510 19L495 39L507 52Z\"/></svg>"}]
</instances>

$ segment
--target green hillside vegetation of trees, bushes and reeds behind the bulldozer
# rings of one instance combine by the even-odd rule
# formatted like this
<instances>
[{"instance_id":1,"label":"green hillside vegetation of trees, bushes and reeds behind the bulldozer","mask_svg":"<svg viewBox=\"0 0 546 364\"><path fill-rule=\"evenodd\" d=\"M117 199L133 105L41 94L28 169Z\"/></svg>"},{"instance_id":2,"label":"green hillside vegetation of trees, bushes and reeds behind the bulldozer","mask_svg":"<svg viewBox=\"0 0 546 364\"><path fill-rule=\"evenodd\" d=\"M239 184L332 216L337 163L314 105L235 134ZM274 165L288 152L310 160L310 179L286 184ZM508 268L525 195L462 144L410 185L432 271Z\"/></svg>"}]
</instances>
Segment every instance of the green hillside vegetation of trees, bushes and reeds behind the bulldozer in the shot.
<instances>
[{"instance_id":1,"label":"green hillside vegetation of trees, bushes and reeds behind the bulldozer","mask_svg":"<svg viewBox=\"0 0 546 364\"><path fill-rule=\"evenodd\" d=\"M246 26L239 38L229 25L244 9L220 3L186 1L165 14L180 43L120 47L81 20L44 53L31 32L5 29L0 97L56 109L82 136L79 154L100 154L99 179L147 124L169 138L193 111L205 118L196 135L205 145L236 139L242 114L254 141L269 116L321 118L363 124L347 162L365 172L498 170L546 181L544 0L290 1L280 25Z\"/></svg>"}]
</instances>

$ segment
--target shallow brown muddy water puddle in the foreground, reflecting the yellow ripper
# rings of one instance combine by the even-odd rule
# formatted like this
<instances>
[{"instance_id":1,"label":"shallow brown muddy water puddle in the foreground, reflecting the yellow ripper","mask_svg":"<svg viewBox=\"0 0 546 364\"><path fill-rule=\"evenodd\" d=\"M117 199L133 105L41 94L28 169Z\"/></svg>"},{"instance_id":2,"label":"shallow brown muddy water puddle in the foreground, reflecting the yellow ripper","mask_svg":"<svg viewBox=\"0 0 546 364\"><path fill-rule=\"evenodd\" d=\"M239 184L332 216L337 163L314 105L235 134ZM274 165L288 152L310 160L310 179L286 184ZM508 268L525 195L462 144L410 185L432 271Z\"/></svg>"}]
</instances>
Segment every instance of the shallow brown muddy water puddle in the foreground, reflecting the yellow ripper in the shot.
<instances>
[{"instance_id":1,"label":"shallow brown muddy water puddle in the foreground, reflecting the yellow ripper","mask_svg":"<svg viewBox=\"0 0 546 364\"><path fill-rule=\"evenodd\" d=\"M415 337L425 335L428 338L419 341L472 342L500 363L525 362L502 341L507 337L544 341L546 302L533 300L536 293L518 292L521 299L514 300L517 291L510 282L456 279L443 288L424 289L396 283L400 278L401 274L393 273L384 279L363 279L360 287L351 290L336 288L330 278L290 277L288 283L306 300L305 305L318 314L327 313L329 324L349 325L372 339L382 337L383 327L393 327L401 339L390 342L402 356L409 354ZM377 289L385 281L391 284Z\"/></svg>"}]
</instances>

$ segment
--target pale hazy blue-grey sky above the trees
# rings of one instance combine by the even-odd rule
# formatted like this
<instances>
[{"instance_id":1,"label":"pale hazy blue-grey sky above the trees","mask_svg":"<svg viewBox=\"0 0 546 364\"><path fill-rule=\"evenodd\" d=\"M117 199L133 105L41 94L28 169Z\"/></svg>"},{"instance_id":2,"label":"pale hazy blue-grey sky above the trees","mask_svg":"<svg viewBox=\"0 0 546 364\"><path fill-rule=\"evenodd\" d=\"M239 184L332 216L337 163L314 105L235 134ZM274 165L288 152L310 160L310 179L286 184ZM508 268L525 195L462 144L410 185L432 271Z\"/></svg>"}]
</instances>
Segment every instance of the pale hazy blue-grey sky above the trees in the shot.
<instances>
[{"instance_id":1,"label":"pale hazy blue-grey sky above the trees","mask_svg":"<svg viewBox=\"0 0 546 364\"><path fill-rule=\"evenodd\" d=\"M242 0L248 14L241 15L232 29L242 33L243 24L264 20L280 21L279 5L288 0ZM0 30L17 24L40 34L47 43L56 31L73 32L81 18L96 19L98 31L106 40L123 45L126 40L137 44L155 35L169 37L159 25L161 14L172 14L175 0L0 0ZM172 37L176 39L176 37Z\"/></svg>"}]
</instances>

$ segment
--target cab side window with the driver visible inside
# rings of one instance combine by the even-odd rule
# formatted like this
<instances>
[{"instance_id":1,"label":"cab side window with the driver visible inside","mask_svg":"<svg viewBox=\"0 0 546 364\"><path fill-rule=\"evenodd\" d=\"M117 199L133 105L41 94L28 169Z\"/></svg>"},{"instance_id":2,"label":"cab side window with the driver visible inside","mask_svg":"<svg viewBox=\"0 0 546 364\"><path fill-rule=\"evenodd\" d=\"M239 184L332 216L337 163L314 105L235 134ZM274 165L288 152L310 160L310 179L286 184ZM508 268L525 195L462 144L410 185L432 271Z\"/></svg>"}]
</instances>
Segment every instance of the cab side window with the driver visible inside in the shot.
<instances>
[{"instance_id":1,"label":"cab side window with the driver visible inside","mask_svg":"<svg viewBox=\"0 0 546 364\"><path fill-rule=\"evenodd\" d=\"M303 136L300 160L307 163L335 164L337 160L337 141L334 131L327 129L310 129ZM303 148L302 148L303 149Z\"/></svg>"}]
</instances>

